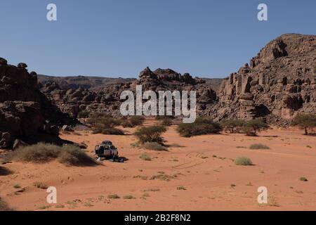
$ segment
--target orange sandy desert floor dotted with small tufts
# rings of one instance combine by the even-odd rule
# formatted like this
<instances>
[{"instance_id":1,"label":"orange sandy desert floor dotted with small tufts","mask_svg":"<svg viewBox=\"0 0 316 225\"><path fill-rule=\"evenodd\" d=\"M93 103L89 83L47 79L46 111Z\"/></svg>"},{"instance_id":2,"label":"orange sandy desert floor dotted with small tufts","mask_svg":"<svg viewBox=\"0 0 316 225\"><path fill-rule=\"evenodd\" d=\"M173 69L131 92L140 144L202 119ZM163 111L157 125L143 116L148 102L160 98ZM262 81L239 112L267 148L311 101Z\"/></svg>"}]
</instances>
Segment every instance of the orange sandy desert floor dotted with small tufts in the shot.
<instances>
[{"instance_id":1,"label":"orange sandy desert floor dotted with small tufts","mask_svg":"<svg viewBox=\"0 0 316 225\"><path fill-rule=\"evenodd\" d=\"M220 134L187 139L175 128L164 134L171 146L168 152L133 148L133 135L62 134L62 139L87 143L91 155L96 144L110 139L128 160L103 161L96 167L13 162L2 166L0 196L15 210L316 210L315 136L270 129L258 137ZM124 130L133 134L133 129ZM250 150L253 143L270 149ZM152 161L140 159L142 153ZM235 165L232 159L238 156L251 158L254 165ZM155 175L162 180L152 179ZM300 181L301 176L308 181ZM48 193L34 187L37 181L57 188L57 205L46 203ZM180 186L185 190L178 190ZM260 186L268 188L267 205L257 202ZM120 198L108 198L112 194ZM124 199L125 195L133 198Z\"/></svg>"}]
</instances>

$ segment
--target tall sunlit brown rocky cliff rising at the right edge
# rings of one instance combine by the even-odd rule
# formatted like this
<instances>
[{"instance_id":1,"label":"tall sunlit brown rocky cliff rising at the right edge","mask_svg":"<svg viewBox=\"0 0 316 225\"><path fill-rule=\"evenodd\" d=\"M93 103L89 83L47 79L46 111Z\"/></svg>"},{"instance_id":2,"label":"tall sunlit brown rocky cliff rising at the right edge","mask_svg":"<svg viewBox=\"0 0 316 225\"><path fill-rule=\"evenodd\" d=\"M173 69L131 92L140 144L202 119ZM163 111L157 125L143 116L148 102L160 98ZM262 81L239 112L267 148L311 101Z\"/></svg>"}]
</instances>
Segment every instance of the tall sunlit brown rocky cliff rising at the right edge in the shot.
<instances>
[{"instance_id":1,"label":"tall sunlit brown rocky cliff rising at the right edge","mask_svg":"<svg viewBox=\"0 0 316 225\"><path fill-rule=\"evenodd\" d=\"M316 36L284 34L220 86L218 119L266 117L287 124L316 113Z\"/></svg>"}]
</instances>

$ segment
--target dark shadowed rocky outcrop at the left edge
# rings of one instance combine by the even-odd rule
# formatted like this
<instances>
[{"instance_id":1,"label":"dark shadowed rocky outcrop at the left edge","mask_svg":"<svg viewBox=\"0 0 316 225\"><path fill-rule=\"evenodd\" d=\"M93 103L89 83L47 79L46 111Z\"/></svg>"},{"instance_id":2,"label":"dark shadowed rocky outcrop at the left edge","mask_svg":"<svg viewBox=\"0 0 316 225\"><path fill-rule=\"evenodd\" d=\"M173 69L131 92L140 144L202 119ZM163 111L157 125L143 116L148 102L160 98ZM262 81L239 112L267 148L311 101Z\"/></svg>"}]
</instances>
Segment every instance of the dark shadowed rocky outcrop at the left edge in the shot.
<instances>
[{"instance_id":1,"label":"dark shadowed rocky outcrop at the left edge","mask_svg":"<svg viewBox=\"0 0 316 225\"><path fill-rule=\"evenodd\" d=\"M25 63L15 67L0 58L0 148L39 132L57 135L57 124L70 122L39 91L37 74L26 68Z\"/></svg>"}]
</instances>

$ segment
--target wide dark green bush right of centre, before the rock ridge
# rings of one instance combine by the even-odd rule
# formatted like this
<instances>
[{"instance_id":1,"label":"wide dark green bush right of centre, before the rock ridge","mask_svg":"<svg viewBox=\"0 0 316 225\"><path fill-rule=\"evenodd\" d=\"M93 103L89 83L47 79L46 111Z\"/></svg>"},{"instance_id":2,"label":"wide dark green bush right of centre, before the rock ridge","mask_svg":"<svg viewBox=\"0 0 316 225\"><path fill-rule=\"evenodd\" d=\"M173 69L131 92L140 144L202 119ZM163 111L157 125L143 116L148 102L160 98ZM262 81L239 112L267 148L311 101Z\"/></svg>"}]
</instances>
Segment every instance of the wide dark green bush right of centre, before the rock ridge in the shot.
<instances>
[{"instance_id":1,"label":"wide dark green bush right of centre, before the rock ridge","mask_svg":"<svg viewBox=\"0 0 316 225\"><path fill-rule=\"evenodd\" d=\"M221 131L220 124L213 122L209 118L197 118L190 124L181 123L177 127L180 136L190 137L203 134L218 134Z\"/></svg>"}]
</instances>

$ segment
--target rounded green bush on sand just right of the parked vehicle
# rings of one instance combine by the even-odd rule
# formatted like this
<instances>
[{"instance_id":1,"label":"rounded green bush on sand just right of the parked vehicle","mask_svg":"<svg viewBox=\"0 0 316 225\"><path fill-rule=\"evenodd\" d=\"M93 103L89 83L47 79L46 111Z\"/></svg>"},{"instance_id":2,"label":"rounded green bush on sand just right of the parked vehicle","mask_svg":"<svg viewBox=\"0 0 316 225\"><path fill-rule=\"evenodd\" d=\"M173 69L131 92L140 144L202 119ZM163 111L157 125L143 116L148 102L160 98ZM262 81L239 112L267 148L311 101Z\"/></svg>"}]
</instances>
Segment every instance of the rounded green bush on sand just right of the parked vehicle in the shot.
<instances>
[{"instance_id":1,"label":"rounded green bush on sand just right of the parked vehicle","mask_svg":"<svg viewBox=\"0 0 316 225\"><path fill-rule=\"evenodd\" d=\"M138 138L140 143L163 143L164 139L162 139L162 133L165 131L166 127L163 126L140 127L135 132L135 136Z\"/></svg>"}]
</instances>

